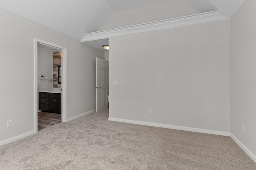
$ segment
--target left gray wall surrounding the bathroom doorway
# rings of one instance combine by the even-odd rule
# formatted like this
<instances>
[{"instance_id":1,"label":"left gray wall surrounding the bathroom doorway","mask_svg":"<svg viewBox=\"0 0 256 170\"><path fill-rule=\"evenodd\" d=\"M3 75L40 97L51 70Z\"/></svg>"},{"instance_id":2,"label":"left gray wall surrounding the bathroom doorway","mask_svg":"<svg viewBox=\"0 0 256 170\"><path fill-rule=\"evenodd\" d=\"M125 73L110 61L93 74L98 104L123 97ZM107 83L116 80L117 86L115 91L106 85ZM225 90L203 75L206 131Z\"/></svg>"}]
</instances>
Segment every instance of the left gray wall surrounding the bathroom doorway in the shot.
<instances>
[{"instance_id":1,"label":"left gray wall surrounding the bathroom doorway","mask_svg":"<svg viewBox=\"0 0 256 170\"><path fill-rule=\"evenodd\" d=\"M68 118L96 108L95 57L104 52L2 8L0 25L0 141L34 130L35 37L67 47Z\"/></svg>"}]
</instances>

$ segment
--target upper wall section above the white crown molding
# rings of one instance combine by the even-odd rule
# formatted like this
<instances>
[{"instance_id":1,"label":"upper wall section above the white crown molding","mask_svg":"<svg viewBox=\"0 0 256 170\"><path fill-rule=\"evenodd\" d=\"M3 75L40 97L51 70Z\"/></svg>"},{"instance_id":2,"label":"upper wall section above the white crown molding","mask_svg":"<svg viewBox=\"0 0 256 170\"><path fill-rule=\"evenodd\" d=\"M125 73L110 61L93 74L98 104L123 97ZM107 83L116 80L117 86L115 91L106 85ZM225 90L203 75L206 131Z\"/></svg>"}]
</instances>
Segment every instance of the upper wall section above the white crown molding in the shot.
<instances>
[{"instance_id":1,"label":"upper wall section above the white crown molding","mask_svg":"<svg viewBox=\"0 0 256 170\"><path fill-rule=\"evenodd\" d=\"M168 0L157 4L117 12L110 18L110 20L108 20L101 30L188 16L192 14L198 14L198 12L176 0Z\"/></svg>"}]
</instances>

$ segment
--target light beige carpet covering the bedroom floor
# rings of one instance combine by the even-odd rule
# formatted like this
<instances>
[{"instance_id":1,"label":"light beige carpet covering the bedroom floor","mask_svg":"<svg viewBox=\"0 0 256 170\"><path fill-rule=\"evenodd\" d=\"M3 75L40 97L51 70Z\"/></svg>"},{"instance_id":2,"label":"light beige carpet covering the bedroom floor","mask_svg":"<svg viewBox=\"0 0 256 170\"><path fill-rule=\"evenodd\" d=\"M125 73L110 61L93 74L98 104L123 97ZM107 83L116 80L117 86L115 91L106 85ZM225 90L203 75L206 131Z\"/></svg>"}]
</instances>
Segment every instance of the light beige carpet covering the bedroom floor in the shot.
<instances>
[{"instance_id":1,"label":"light beige carpet covering the bedroom floor","mask_svg":"<svg viewBox=\"0 0 256 170\"><path fill-rule=\"evenodd\" d=\"M108 109L0 147L1 170L256 170L230 137L108 121Z\"/></svg>"}]
</instances>

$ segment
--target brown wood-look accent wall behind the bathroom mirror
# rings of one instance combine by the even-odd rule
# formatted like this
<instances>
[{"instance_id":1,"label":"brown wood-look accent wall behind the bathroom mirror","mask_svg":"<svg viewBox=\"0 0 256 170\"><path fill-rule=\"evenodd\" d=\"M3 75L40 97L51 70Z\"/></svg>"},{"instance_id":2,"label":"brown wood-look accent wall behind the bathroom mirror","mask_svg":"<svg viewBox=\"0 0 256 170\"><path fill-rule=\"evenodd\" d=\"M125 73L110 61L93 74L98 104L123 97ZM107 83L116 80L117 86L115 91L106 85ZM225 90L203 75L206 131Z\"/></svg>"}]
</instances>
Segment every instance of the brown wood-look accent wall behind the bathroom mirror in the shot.
<instances>
[{"instance_id":1,"label":"brown wood-look accent wall behind the bathroom mirror","mask_svg":"<svg viewBox=\"0 0 256 170\"><path fill-rule=\"evenodd\" d=\"M58 84L58 70L59 66L61 66L61 59L60 59L61 51L53 51L52 53L52 88L61 88L61 84Z\"/></svg>"}]
</instances>

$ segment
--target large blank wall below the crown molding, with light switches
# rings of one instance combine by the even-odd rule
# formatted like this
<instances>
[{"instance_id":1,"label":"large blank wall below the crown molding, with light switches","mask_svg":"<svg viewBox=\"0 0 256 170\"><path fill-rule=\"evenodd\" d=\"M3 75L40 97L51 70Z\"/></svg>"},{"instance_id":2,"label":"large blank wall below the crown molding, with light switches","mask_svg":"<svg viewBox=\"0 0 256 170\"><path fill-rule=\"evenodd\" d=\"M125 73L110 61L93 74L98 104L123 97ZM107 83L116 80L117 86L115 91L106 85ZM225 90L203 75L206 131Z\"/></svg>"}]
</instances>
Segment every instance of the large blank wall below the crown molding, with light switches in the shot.
<instances>
[{"instance_id":1,"label":"large blank wall below the crown molding, with light switches","mask_svg":"<svg viewBox=\"0 0 256 170\"><path fill-rule=\"evenodd\" d=\"M110 118L230 132L229 21L114 37L109 45L110 84L125 84L109 87Z\"/></svg>"}]
</instances>

